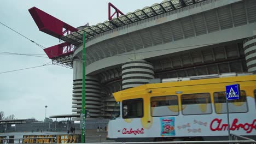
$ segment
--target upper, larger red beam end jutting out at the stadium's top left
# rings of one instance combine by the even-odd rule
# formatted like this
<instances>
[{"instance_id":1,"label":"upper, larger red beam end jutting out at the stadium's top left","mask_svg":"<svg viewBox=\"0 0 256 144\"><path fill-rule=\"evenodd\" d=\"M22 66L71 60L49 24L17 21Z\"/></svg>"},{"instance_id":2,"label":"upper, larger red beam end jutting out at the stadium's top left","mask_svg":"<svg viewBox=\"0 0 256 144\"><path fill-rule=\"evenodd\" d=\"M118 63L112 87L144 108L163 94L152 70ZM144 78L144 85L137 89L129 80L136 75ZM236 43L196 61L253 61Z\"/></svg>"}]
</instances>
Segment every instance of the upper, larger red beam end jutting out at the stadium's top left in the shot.
<instances>
[{"instance_id":1,"label":"upper, larger red beam end jutting out at the stadium's top left","mask_svg":"<svg viewBox=\"0 0 256 144\"><path fill-rule=\"evenodd\" d=\"M61 38L64 34L78 31L77 28L68 25L36 7L30 8L28 11L33 17L34 22L36 22L39 31L52 35L53 37Z\"/></svg>"}]
</instances>

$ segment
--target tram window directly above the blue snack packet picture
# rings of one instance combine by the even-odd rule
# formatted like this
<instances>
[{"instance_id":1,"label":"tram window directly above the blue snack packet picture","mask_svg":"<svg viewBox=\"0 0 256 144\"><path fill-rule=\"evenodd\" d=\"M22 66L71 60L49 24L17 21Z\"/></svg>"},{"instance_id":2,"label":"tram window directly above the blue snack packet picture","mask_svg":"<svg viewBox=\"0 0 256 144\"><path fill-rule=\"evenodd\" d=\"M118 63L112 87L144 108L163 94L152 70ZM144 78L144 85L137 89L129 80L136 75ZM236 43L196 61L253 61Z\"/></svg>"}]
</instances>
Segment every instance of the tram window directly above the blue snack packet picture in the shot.
<instances>
[{"instance_id":1,"label":"tram window directly above the blue snack packet picture","mask_svg":"<svg viewBox=\"0 0 256 144\"><path fill-rule=\"evenodd\" d=\"M150 99L151 115L156 116L177 116L179 115L177 95L164 97L152 97Z\"/></svg>"}]
</instances>

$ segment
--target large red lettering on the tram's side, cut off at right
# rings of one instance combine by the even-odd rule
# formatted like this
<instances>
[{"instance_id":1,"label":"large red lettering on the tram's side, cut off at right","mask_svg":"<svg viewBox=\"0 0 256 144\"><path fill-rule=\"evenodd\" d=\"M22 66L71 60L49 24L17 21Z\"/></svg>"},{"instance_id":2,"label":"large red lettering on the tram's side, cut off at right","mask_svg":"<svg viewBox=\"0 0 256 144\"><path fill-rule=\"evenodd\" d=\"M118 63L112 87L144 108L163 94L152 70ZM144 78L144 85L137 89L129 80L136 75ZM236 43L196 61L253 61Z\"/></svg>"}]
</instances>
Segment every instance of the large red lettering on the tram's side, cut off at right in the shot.
<instances>
[{"instance_id":1,"label":"large red lettering on the tram's side, cut off at right","mask_svg":"<svg viewBox=\"0 0 256 144\"><path fill-rule=\"evenodd\" d=\"M245 130L247 134L251 133L253 129L256 130L256 119L250 123L238 123L238 119L235 118L230 125L230 130ZM214 118L210 124L210 129L212 131L222 131L228 130L228 124L222 123L222 119Z\"/></svg>"}]
</instances>

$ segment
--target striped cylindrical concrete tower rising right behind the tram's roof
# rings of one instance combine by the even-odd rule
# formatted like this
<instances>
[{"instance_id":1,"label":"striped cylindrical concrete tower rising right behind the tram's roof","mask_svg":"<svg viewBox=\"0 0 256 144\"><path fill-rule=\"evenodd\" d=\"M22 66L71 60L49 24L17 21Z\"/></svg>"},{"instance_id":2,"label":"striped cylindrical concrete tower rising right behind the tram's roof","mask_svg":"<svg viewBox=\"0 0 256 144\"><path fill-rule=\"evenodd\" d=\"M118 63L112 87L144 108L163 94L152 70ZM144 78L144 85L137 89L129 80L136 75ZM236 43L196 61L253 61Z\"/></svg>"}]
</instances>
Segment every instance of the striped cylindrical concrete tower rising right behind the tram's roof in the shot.
<instances>
[{"instance_id":1,"label":"striped cylindrical concrete tower rising right behind the tram's roof","mask_svg":"<svg viewBox=\"0 0 256 144\"><path fill-rule=\"evenodd\" d=\"M154 79L153 65L144 59L135 59L122 66L123 89L144 85Z\"/></svg>"}]
</instances>

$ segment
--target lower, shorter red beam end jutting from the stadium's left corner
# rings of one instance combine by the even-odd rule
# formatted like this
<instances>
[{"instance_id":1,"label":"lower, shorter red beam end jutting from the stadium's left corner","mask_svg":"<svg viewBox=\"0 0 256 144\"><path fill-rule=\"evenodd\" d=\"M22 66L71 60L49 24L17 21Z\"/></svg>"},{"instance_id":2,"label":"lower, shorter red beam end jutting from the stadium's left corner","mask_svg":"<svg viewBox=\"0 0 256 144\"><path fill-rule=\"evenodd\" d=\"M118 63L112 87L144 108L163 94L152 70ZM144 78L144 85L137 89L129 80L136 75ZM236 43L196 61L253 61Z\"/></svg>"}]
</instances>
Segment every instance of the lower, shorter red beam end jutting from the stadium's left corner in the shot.
<instances>
[{"instance_id":1,"label":"lower, shorter red beam end jutting from the stadium's left corner","mask_svg":"<svg viewBox=\"0 0 256 144\"><path fill-rule=\"evenodd\" d=\"M74 52L74 46L68 43L54 45L44 49L44 52L50 59L65 57Z\"/></svg>"}]
</instances>

